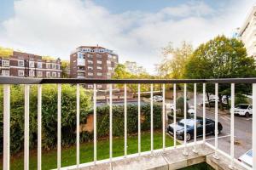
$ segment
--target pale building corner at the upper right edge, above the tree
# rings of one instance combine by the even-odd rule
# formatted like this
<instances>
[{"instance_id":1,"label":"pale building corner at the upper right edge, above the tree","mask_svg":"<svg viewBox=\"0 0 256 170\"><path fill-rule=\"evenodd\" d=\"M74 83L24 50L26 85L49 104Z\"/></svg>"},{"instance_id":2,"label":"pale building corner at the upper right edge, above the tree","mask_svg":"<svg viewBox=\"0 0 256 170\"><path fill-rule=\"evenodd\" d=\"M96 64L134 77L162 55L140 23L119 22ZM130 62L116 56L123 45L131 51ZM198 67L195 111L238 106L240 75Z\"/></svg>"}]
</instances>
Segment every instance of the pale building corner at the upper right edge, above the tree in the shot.
<instances>
[{"instance_id":1,"label":"pale building corner at the upper right edge, above the tree","mask_svg":"<svg viewBox=\"0 0 256 170\"><path fill-rule=\"evenodd\" d=\"M247 15L247 19L238 32L238 37L244 42L247 54L256 57L256 6Z\"/></svg>"}]
</instances>

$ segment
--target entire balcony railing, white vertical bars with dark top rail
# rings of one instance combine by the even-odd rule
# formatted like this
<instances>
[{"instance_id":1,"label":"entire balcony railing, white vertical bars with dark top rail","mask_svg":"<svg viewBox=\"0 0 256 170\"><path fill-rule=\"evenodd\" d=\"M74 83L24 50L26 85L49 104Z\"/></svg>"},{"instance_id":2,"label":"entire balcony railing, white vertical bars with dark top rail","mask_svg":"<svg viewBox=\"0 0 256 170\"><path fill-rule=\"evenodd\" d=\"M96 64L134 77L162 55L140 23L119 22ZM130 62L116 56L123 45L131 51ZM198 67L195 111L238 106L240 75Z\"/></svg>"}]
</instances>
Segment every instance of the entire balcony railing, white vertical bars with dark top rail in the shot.
<instances>
[{"instance_id":1,"label":"entire balcony railing, white vertical bars with dark top rail","mask_svg":"<svg viewBox=\"0 0 256 170\"><path fill-rule=\"evenodd\" d=\"M186 135L184 133L183 144L179 146L183 147L183 155L188 156L189 152L187 150L188 145L194 146L194 152L197 153L197 144L207 144L212 149L215 150L214 157L218 159L219 154L227 156L230 159L230 167L234 167L235 162L239 163L241 166L250 169L246 165L243 165L241 162L237 161L234 157L234 108L235 108L235 84L236 83L251 83L253 84L253 115L256 115L256 78L245 78L245 79L216 79L216 80L96 80L96 79L31 79L31 78L17 78L17 77L0 77L0 84L3 84L3 169L10 169L10 85L11 84L24 84L25 85L25 128L24 128L24 169L29 169L29 113L30 113L30 85L37 84L38 86L38 170L41 169L42 166L42 84L57 84L57 169L66 169L66 168L79 168L86 167L89 164L81 164L80 163L80 154L79 154L79 115L80 115L80 84L94 84L93 86L93 127L97 128L96 125L96 84L109 84L109 159L105 160L108 162L112 162L119 159L126 159L128 156L127 153L127 84L137 84L137 105L138 105L138 143L137 143L137 154L134 156L141 156L144 154L153 154L158 151L165 151L170 149L177 148L177 134L176 127L174 126L174 145L170 148L166 148L166 84L173 84L173 104L174 104L174 115L173 122L176 124L176 99L177 99L177 84L183 83L183 99L184 99L184 120L186 117L186 101L187 101L187 84L194 84L194 106L195 106L195 114L194 119L196 120L197 111L196 111L196 97L197 97L197 84L202 84L202 96L203 96L203 136L201 140L194 138L194 142L192 144L187 144ZM77 93L76 93L76 165L73 167L61 167L61 84L63 83L73 83L76 84ZM125 116L125 145L124 145L124 156L113 158L113 84L124 84L124 116ZM153 110L153 84L160 83L161 91L162 91L162 149L154 150L154 110ZM207 83L215 84L215 142L214 145L207 143L206 140L206 85ZM230 154L226 154L223 151L218 149L218 84L219 83L230 83L231 89L231 116L230 116ZM150 84L150 151L142 152L141 151L141 84ZM256 116L253 116L253 125L256 123ZM196 121L195 125L196 127ZM184 121L184 132L186 132L186 121ZM194 133L196 134L196 128L194 129ZM96 130L93 131L94 136L94 158L93 164L97 164L102 161L97 160L97 133ZM253 126L253 169L256 169L256 126Z\"/></svg>"}]
</instances>

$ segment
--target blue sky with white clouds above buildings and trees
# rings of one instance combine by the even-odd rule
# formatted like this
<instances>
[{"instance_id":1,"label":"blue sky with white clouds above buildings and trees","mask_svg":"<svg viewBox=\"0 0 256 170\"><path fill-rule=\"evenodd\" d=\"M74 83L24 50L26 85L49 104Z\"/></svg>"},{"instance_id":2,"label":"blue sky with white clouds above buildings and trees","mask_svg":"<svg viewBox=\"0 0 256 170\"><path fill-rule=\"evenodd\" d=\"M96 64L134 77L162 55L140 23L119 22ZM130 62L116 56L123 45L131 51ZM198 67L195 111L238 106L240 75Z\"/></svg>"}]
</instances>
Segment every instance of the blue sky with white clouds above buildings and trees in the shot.
<instances>
[{"instance_id":1,"label":"blue sky with white clouds above buildings and trees","mask_svg":"<svg viewBox=\"0 0 256 170\"><path fill-rule=\"evenodd\" d=\"M253 0L0 0L0 46L69 59L96 44L136 61L149 73L168 42L196 48L218 35L231 37Z\"/></svg>"}]
</instances>

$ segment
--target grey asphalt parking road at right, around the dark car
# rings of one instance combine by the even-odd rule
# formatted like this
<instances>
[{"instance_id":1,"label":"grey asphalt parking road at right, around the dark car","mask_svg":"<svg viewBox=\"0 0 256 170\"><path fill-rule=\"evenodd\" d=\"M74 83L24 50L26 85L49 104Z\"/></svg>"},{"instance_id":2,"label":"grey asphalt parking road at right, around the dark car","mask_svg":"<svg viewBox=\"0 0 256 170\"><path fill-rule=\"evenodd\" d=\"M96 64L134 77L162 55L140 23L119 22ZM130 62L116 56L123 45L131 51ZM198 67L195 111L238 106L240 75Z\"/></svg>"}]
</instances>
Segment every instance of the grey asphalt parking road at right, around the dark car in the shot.
<instances>
[{"instance_id":1,"label":"grey asphalt parking road at right, around the dark car","mask_svg":"<svg viewBox=\"0 0 256 170\"><path fill-rule=\"evenodd\" d=\"M202 96L197 96L197 104L202 101ZM172 101L169 101L172 103ZM193 99L189 99L189 105L193 105ZM202 107L197 105L197 116L202 116ZM214 120L214 108L208 108L206 110L207 118ZM218 135L218 149L223 150L227 154L230 154L230 114L224 113L224 111L218 111L218 122L223 126L222 132ZM239 158L247 150L252 149L252 117L246 118L243 116L235 116L235 150L234 154L236 158ZM202 138L199 137L198 140ZM214 135L207 136L207 142L214 145ZM193 142L191 139L190 142Z\"/></svg>"}]
</instances>

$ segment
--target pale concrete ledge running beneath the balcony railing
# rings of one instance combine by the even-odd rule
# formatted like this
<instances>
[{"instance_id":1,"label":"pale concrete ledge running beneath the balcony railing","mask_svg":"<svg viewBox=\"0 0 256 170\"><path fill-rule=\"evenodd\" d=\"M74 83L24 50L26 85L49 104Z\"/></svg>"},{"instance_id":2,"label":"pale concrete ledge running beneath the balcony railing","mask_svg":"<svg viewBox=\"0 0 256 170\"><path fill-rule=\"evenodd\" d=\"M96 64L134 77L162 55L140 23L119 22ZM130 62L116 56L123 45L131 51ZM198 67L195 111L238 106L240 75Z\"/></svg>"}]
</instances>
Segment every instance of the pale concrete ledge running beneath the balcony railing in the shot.
<instances>
[{"instance_id":1,"label":"pale concrete ledge running beneath the balcony railing","mask_svg":"<svg viewBox=\"0 0 256 170\"><path fill-rule=\"evenodd\" d=\"M197 153L193 152L194 147L188 146L188 156L183 155L183 148L158 151L154 154L147 153L142 156L119 157L118 161L104 162L88 167L80 167L79 170L174 170L189 167L198 163L207 162L217 170L230 170L228 157L219 154L219 159L213 158L214 150L207 144L198 144ZM113 159L114 160L114 159ZM234 169L246 170L246 168L235 163Z\"/></svg>"}]
</instances>

